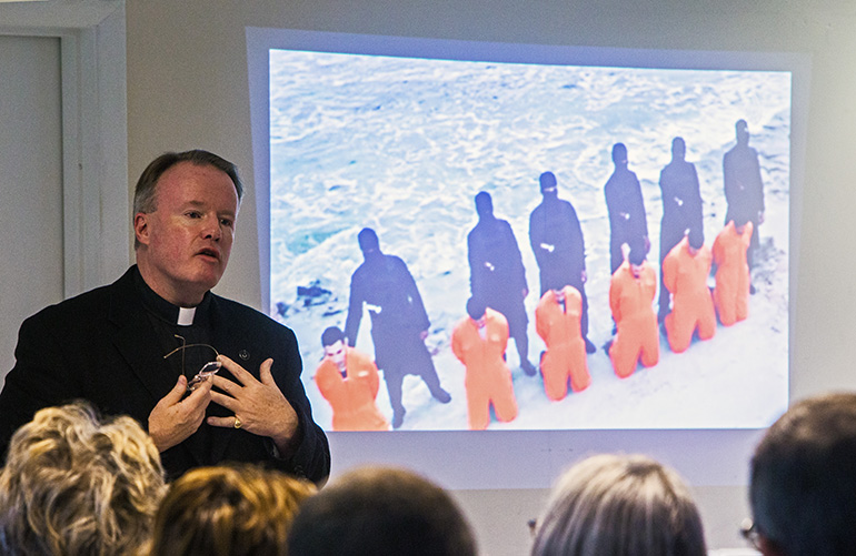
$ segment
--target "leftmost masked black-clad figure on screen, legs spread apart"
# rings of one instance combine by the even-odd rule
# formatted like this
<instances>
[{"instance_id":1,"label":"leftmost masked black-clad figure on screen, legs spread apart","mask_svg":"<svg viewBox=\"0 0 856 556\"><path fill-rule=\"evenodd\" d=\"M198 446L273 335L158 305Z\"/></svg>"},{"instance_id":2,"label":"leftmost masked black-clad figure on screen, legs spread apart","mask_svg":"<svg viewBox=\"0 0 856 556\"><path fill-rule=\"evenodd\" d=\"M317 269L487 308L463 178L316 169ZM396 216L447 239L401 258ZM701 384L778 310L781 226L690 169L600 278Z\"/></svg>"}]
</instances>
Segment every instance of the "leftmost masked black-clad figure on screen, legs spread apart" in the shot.
<instances>
[{"instance_id":1,"label":"leftmost masked black-clad figure on screen, legs spread apart","mask_svg":"<svg viewBox=\"0 0 856 556\"><path fill-rule=\"evenodd\" d=\"M384 371L392 405L392 427L399 428L406 413L401 404L405 375L420 376L440 403L449 403L451 396L440 386L431 354L425 346L430 322L407 264L395 255L385 255L378 235L370 228L364 228L357 240L364 263L350 280L345 335L348 345L357 345L365 304L371 314L375 362Z\"/></svg>"}]
</instances>

